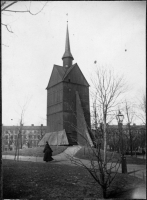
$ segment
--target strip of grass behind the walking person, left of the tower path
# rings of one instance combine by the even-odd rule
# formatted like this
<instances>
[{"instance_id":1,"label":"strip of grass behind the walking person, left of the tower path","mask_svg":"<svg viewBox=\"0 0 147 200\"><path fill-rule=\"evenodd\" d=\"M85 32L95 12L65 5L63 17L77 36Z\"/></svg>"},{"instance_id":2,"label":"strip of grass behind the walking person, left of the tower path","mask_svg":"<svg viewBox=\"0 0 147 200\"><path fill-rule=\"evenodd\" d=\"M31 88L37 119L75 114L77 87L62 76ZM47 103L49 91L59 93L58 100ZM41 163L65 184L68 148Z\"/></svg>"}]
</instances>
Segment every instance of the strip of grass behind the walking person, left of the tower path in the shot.
<instances>
[{"instance_id":1,"label":"strip of grass behind the walking person, left of the tower path","mask_svg":"<svg viewBox=\"0 0 147 200\"><path fill-rule=\"evenodd\" d=\"M67 146L51 146L53 150L53 156L62 153L67 149ZM44 147L34 147L34 148L28 148L28 149L20 149L19 155L21 156L37 156L37 157L43 157ZM15 151L4 151L2 152L3 155L15 155Z\"/></svg>"}]
</instances>

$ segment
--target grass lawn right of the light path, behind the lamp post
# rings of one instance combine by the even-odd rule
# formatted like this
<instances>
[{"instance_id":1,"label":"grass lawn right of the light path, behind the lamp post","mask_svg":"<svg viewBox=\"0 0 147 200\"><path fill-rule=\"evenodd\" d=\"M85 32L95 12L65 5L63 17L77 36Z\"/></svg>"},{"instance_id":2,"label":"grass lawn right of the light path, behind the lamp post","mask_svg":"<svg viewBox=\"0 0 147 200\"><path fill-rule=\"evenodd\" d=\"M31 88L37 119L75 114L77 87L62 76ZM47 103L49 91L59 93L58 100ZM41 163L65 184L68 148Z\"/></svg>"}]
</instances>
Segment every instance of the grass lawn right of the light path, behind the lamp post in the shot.
<instances>
[{"instance_id":1,"label":"grass lawn right of the light path, behind the lamp post","mask_svg":"<svg viewBox=\"0 0 147 200\"><path fill-rule=\"evenodd\" d=\"M93 149L94 151L96 151L95 149ZM93 160L97 160L95 154L93 153L93 150L91 148L88 147L82 147L76 154L75 157L80 158L80 159L86 159L86 160L90 160L91 158L93 158ZM103 160L104 158L104 151L101 149L101 158ZM107 151L107 159L108 162L113 161L113 162L117 162L118 160L121 159L121 155L119 153L116 152L109 152ZM145 165L146 164L146 160L145 159L140 159L137 158L135 156L128 156L126 155L126 160L127 160L127 164L137 164L137 165Z\"/></svg>"}]
</instances>

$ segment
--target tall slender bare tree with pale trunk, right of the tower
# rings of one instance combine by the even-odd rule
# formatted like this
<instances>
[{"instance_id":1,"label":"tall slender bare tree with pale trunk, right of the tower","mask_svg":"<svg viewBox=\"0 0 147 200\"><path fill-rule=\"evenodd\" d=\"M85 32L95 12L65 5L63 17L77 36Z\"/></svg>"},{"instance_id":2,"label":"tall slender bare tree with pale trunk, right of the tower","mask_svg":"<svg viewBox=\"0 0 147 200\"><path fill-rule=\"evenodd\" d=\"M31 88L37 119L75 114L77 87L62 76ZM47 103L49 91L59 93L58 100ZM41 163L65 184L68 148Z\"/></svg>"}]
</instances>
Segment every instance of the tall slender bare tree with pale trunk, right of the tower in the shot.
<instances>
[{"instance_id":1,"label":"tall slender bare tree with pale trunk, right of the tower","mask_svg":"<svg viewBox=\"0 0 147 200\"><path fill-rule=\"evenodd\" d=\"M112 70L98 68L92 80L93 88L97 94L97 104L101 107L104 124L104 163L107 163L107 121L112 120L114 111L119 104L120 95L125 92L125 81L123 76L116 76Z\"/></svg>"}]
</instances>

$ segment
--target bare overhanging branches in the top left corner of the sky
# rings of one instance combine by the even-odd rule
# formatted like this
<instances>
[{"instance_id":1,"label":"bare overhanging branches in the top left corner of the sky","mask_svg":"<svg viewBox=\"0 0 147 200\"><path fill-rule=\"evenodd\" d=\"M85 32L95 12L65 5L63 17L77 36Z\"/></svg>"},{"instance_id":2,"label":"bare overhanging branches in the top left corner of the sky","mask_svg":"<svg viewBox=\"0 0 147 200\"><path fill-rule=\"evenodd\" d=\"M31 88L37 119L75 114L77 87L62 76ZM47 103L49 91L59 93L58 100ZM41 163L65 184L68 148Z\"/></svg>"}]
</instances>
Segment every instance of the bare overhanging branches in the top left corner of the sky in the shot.
<instances>
[{"instance_id":1,"label":"bare overhanging branches in the top left corner of the sky","mask_svg":"<svg viewBox=\"0 0 147 200\"><path fill-rule=\"evenodd\" d=\"M23 6L22 6L22 10L17 10L14 7L15 4L20 4L20 3L24 4L25 9L23 9ZM31 15L37 15L44 9L44 7L46 6L47 3L48 2L45 2L43 7L38 12L33 13L30 9L31 1L29 1L29 8L26 7L25 1L1 1L1 13L2 13L2 15L5 15L6 13L29 13ZM7 31L9 31L10 33L13 33L11 26L9 24L1 22L1 25L6 27Z\"/></svg>"}]
</instances>

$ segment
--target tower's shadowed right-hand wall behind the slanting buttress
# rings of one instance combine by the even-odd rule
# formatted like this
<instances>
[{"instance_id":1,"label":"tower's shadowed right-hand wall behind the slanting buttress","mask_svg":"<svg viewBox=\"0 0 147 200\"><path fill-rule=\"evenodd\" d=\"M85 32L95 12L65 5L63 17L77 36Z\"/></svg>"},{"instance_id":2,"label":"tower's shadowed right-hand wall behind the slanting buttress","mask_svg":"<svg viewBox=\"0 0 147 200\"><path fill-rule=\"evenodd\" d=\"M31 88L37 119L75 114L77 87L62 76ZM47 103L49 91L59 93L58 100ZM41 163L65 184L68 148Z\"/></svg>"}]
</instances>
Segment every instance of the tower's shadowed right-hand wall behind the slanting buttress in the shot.
<instances>
[{"instance_id":1,"label":"tower's shadowed right-hand wall behind the slanting buttress","mask_svg":"<svg viewBox=\"0 0 147 200\"><path fill-rule=\"evenodd\" d=\"M76 91L80 94L85 120L90 127L89 87L71 82L63 83L64 127L67 132L77 131ZM70 124L70 125L69 125ZM74 127L75 128L74 128Z\"/></svg>"}]
</instances>

